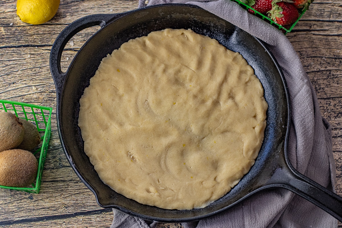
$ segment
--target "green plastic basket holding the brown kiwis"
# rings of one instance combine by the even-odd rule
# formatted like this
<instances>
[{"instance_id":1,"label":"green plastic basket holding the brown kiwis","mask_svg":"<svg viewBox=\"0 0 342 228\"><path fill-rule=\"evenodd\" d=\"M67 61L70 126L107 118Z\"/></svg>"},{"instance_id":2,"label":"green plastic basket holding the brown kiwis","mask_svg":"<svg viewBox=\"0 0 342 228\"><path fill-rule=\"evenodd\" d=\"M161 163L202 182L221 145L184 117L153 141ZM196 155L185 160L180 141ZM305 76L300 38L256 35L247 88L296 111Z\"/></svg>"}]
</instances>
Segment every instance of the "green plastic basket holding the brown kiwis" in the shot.
<instances>
[{"instance_id":1,"label":"green plastic basket holding the brown kiwis","mask_svg":"<svg viewBox=\"0 0 342 228\"><path fill-rule=\"evenodd\" d=\"M32 183L32 187L18 188L0 185L0 188L13 189L31 193L39 193L41 176L51 135L52 108L43 107L39 105L25 104L21 102L0 100L0 111L12 112L19 118L25 119L32 123L36 123L38 132L41 136L41 143L39 145L39 148L36 151L31 151L36 156L38 161L37 177L36 181Z\"/></svg>"}]
</instances>

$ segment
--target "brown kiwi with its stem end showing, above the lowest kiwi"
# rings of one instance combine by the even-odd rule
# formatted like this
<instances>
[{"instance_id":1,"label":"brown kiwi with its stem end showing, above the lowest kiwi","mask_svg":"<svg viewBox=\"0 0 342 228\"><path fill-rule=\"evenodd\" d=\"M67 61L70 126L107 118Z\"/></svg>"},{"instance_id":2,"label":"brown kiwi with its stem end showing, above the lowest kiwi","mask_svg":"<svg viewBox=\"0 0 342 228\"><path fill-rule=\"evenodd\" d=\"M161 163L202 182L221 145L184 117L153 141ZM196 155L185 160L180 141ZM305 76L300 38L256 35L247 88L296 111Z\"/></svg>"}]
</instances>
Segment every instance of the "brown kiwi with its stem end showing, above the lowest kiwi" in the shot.
<instances>
[{"instance_id":1,"label":"brown kiwi with its stem end showing, above the lowest kiwi","mask_svg":"<svg viewBox=\"0 0 342 228\"><path fill-rule=\"evenodd\" d=\"M23 123L11 112L0 112L0 151L16 148L24 139Z\"/></svg>"}]
</instances>

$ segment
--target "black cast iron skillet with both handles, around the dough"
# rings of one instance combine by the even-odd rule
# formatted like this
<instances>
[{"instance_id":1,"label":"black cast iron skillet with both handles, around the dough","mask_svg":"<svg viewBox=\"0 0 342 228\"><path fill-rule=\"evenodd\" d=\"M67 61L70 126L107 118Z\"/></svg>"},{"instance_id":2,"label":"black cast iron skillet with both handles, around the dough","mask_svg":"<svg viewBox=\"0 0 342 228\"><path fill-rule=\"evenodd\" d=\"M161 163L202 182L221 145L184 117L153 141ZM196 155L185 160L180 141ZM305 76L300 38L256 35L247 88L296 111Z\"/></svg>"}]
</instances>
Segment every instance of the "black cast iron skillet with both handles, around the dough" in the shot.
<instances>
[{"instance_id":1,"label":"black cast iron skillet with both handles, around the dough","mask_svg":"<svg viewBox=\"0 0 342 228\"><path fill-rule=\"evenodd\" d=\"M62 72L61 55L66 43L77 32L96 25L101 28L82 46L68 70ZM241 53L260 79L268 103L265 138L255 164L230 192L202 209L161 209L137 203L110 189L98 177L84 153L77 125L79 99L102 58L130 39L165 28L190 28ZM342 220L342 198L298 173L289 162L289 95L276 60L260 40L222 18L186 4L163 4L120 14L86 16L71 23L57 37L51 49L50 69L57 92L57 125L63 150L100 206L115 207L147 220L187 222L223 212L263 189L282 187Z\"/></svg>"}]
</instances>

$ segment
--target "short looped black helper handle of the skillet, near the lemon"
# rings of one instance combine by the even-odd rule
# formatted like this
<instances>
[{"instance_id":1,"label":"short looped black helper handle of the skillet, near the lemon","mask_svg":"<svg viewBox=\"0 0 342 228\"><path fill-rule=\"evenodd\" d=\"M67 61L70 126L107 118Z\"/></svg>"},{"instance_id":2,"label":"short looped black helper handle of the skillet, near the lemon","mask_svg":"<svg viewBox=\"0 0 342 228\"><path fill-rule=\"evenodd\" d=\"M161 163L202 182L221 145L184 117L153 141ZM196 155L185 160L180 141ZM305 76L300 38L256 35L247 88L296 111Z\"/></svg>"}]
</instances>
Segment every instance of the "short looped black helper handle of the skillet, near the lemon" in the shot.
<instances>
[{"instance_id":1,"label":"short looped black helper handle of the skillet, near the lemon","mask_svg":"<svg viewBox=\"0 0 342 228\"><path fill-rule=\"evenodd\" d=\"M102 28L117 15L118 14L93 14L82 17L65 27L57 36L50 53L50 72L55 83L57 99L62 92L66 77L66 72L62 72L61 70L61 56L65 45L79 31L96 25L101 26Z\"/></svg>"}]
</instances>

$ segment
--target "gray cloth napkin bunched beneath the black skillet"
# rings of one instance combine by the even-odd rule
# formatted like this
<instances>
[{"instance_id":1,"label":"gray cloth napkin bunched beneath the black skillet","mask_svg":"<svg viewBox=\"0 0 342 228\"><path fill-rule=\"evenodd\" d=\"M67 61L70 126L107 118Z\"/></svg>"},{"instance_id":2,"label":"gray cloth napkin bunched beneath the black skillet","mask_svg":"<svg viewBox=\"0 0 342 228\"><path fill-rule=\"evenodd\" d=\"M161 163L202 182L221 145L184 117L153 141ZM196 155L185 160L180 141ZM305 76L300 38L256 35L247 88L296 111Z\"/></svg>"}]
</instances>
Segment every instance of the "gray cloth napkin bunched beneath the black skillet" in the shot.
<instances>
[{"instance_id":1,"label":"gray cloth napkin bunched beneath the black skillet","mask_svg":"<svg viewBox=\"0 0 342 228\"><path fill-rule=\"evenodd\" d=\"M291 164L300 173L335 191L331 126L322 118L310 79L286 36L229 0L149 0L147 5L161 3L198 5L268 44L284 72L290 93L292 123L288 153ZM139 7L143 6L146 6L145 0L140 0ZM113 212L111 228L155 228L157 225L116 209ZM185 228L330 228L337 227L337 220L288 190L272 189L259 192L219 215L182 225Z\"/></svg>"}]
</instances>

